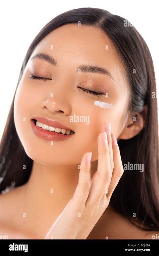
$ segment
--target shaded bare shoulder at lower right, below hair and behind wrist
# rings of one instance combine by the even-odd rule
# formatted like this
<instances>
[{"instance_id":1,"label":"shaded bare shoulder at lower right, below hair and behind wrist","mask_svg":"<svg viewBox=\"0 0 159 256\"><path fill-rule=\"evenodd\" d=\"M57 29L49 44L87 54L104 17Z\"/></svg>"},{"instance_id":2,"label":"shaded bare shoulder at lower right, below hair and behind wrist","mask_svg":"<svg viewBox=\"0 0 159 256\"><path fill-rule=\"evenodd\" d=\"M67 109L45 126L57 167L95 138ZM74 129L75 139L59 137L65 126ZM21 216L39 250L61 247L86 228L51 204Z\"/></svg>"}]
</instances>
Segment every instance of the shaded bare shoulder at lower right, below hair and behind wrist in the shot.
<instances>
[{"instance_id":1,"label":"shaded bare shoulder at lower right, below hair and behind wrist","mask_svg":"<svg viewBox=\"0 0 159 256\"><path fill-rule=\"evenodd\" d=\"M109 206L87 239L159 239L158 231L144 230L142 225L131 221Z\"/></svg>"}]
</instances>

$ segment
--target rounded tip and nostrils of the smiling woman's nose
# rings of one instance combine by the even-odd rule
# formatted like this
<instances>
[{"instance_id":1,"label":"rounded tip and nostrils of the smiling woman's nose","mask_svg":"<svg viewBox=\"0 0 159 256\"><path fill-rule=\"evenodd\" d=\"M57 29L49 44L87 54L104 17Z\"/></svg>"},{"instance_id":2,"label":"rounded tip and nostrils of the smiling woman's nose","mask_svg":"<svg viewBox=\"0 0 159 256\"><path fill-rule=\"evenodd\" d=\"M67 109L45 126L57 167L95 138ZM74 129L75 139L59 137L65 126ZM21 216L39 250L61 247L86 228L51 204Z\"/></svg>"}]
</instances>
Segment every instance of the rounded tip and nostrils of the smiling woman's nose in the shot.
<instances>
[{"instance_id":1,"label":"rounded tip and nostrils of the smiling woman's nose","mask_svg":"<svg viewBox=\"0 0 159 256\"><path fill-rule=\"evenodd\" d=\"M57 92L55 95L50 93L50 96L48 96L47 99L42 102L42 108L48 109L48 111L52 114L55 112L62 112L65 115L70 115L71 113L71 106L68 99L61 93L57 94Z\"/></svg>"}]
</instances>

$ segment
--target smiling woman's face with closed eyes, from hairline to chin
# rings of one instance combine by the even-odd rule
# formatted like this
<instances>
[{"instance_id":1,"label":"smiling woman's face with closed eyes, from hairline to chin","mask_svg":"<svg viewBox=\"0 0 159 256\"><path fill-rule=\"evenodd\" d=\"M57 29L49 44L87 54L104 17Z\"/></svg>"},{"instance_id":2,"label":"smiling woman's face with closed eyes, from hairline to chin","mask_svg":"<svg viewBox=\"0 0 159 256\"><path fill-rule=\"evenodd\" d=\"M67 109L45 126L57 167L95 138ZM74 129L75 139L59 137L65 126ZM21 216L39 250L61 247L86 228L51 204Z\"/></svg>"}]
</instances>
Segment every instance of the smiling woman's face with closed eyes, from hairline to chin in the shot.
<instances>
[{"instance_id":1,"label":"smiling woman's face with closed eyes, from hairline to chin","mask_svg":"<svg viewBox=\"0 0 159 256\"><path fill-rule=\"evenodd\" d=\"M57 64L32 59L38 53L50 55ZM82 65L105 68L112 77L91 72L93 68L83 70ZM52 80L30 79L31 75ZM79 87L101 94L93 95ZM104 109L95 101L113 107ZM67 24L43 38L30 56L15 95L14 122L31 159L50 165L78 164L87 151L92 152L92 161L98 159L97 137L104 123L110 122L111 132L119 137L128 103L129 87L111 40L99 28ZM52 144L34 134L31 120L35 116L58 121L75 134ZM70 116L84 118L70 122Z\"/></svg>"}]
</instances>

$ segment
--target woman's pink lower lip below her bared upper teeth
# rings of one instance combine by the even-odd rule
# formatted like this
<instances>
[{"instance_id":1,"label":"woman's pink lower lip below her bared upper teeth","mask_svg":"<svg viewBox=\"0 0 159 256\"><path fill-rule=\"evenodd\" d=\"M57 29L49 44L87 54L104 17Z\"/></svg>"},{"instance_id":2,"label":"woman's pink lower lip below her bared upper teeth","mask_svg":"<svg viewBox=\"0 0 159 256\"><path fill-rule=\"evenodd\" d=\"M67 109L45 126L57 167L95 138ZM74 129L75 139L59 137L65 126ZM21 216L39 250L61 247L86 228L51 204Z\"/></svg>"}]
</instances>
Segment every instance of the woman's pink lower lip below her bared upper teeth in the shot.
<instances>
[{"instance_id":1,"label":"woman's pink lower lip below her bared upper teeth","mask_svg":"<svg viewBox=\"0 0 159 256\"><path fill-rule=\"evenodd\" d=\"M71 135L63 135L58 133L49 132L48 130L44 130L43 128L40 128L39 126L36 126L34 123L34 120L31 120L32 123L32 129L34 134L44 140L49 141L59 141L59 140L67 140L71 137L73 137L74 133Z\"/></svg>"}]
</instances>

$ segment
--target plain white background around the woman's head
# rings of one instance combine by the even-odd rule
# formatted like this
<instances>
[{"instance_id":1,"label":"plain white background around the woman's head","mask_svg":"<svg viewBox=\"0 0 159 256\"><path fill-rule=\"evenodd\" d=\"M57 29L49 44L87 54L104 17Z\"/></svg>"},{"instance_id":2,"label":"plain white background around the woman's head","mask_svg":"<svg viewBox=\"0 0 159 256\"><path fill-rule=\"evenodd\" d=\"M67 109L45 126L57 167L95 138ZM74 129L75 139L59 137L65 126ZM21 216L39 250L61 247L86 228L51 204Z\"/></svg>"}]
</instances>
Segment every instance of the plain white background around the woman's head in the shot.
<instances>
[{"instance_id":1,"label":"plain white background around the woman's head","mask_svg":"<svg viewBox=\"0 0 159 256\"><path fill-rule=\"evenodd\" d=\"M158 90L159 46L157 31L159 28L157 0L3 0L0 4L0 138L4 130L23 59L34 37L50 20L60 13L81 7L102 8L127 19L133 24L143 36L151 52ZM157 98L159 98L159 93Z\"/></svg>"}]
</instances>

